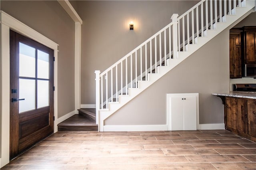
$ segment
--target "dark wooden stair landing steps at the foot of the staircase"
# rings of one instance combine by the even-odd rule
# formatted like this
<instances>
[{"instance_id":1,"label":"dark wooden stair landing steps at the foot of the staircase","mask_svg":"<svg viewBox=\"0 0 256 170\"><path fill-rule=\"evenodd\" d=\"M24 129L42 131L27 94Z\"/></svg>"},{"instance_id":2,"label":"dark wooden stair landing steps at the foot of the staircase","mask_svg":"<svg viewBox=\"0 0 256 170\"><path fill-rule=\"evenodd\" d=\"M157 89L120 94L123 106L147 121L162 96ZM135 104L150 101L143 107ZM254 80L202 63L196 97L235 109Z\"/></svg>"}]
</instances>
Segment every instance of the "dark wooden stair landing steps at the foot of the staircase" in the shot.
<instances>
[{"instance_id":1,"label":"dark wooden stair landing steps at the foot of the staircase","mask_svg":"<svg viewBox=\"0 0 256 170\"><path fill-rule=\"evenodd\" d=\"M58 124L60 131L98 131L96 109L78 109L78 113Z\"/></svg>"}]
</instances>

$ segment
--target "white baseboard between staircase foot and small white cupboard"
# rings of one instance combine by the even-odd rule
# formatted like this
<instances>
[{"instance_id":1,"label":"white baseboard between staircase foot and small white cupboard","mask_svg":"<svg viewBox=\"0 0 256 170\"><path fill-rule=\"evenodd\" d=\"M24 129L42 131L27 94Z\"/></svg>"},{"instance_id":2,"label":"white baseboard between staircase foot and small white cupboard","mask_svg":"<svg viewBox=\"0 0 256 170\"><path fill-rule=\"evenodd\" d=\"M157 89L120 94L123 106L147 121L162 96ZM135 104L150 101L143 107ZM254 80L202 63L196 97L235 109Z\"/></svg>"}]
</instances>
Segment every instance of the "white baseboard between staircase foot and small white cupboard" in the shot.
<instances>
[{"instance_id":1,"label":"white baseboard between staircase foot and small white cupboard","mask_svg":"<svg viewBox=\"0 0 256 170\"><path fill-rule=\"evenodd\" d=\"M158 131L167 130L167 125L105 125L104 132L113 131Z\"/></svg>"}]
</instances>

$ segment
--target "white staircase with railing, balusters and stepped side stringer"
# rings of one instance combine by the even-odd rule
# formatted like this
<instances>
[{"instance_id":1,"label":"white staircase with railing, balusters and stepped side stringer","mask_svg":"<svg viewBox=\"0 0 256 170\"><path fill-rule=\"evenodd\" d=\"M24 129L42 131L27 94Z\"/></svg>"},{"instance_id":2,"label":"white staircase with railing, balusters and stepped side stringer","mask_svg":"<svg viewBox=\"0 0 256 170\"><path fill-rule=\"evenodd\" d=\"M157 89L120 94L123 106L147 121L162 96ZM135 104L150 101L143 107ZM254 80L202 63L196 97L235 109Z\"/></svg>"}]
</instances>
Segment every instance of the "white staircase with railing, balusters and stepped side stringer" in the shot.
<instances>
[{"instance_id":1,"label":"white staircase with railing, balusters and stepped side stringer","mask_svg":"<svg viewBox=\"0 0 256 170\"><path fill-rule=\"evenodd\" d=\"M255 0L202 0L111 67L96 73L96 123L104 120L184 59L254 12Z\"/></svg>"}]
</instances>

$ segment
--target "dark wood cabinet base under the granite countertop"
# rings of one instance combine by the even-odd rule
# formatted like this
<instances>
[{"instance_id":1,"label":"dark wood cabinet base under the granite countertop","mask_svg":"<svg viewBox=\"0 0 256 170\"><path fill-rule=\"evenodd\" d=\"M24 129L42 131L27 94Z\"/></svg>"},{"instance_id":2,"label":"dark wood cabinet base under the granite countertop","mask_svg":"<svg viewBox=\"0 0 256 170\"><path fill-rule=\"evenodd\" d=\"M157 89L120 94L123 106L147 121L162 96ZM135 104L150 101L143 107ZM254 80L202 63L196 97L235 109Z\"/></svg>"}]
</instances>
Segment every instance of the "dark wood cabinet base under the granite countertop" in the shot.
<instances>
[{"instance_id":1,"label":"dark wood cabinet base under the granite countertop","mask_svg":"<svg viewBox=\"0 0 256 170\"><path fill-rule=\"evenodd\" d=\"M225 98L225 128L256 141L256 99Z\"/></svg>"}]
</instances>

